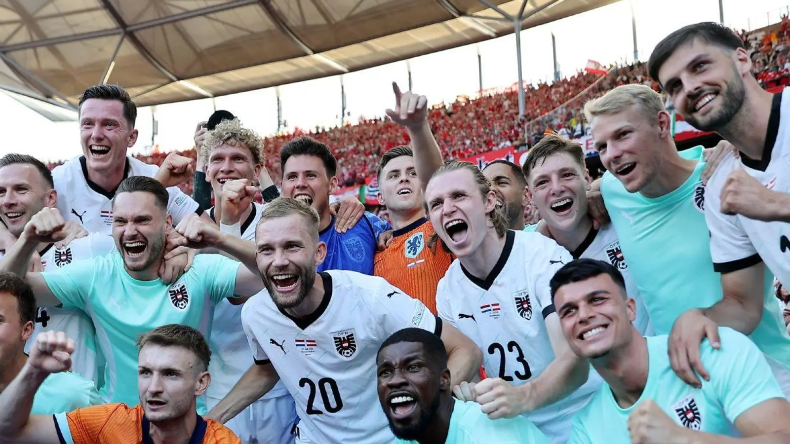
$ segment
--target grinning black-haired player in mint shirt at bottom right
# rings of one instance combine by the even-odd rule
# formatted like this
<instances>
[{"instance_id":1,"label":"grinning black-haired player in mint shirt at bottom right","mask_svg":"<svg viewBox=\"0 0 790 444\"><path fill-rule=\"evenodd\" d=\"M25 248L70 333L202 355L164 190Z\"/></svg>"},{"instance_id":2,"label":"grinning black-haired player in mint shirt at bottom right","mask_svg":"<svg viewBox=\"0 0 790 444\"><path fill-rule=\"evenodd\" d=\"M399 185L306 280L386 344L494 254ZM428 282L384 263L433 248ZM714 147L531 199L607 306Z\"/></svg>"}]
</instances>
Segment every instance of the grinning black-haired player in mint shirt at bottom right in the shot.
<instances>
[{"instance_id":1,"label":"grinning black-haired player in mint shirt at bottom right","mask_svg":"<svg viewBox=\"0 0 790 444\"><path fill-rule=\"evenodd\" d=\"M551 278L551 295L571 350L606 382L574 418L572 444L698 442L779 444L790 438L790 403L762 353L732 329L724 347L702 344L709 381L690 387L672 371L668 337L642 337L623 276L606 262L578 259ZM743 438L737 436L732 425Z\"/></svg>"}]
</instances>

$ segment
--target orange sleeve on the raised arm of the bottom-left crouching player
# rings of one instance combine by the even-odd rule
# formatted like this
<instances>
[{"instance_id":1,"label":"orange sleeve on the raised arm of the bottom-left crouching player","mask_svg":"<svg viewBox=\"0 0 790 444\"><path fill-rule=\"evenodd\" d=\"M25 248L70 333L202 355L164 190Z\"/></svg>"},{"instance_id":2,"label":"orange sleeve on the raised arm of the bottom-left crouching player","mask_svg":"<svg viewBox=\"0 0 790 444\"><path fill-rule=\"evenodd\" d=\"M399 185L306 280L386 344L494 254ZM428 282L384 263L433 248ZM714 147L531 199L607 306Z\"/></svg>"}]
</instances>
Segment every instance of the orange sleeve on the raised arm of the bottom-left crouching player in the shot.
<instances>
[{"instance_id":1,"label":"orange sleeve on the raised arm of the bottom-left crouching player","mask_svg":"<svg viewBox=\"0 0 790 444\"><path fill-rule=\"evenodd\" d=\"M126 415L116 416L123 404L102 404L77 408L66 413L69 431L74 444L94 444L100 442L100 433L128 437L129 423ZM139 428L139 427L137 427ZM117 434L117 435L116 435Z\"/></svg>"}]
</instances>

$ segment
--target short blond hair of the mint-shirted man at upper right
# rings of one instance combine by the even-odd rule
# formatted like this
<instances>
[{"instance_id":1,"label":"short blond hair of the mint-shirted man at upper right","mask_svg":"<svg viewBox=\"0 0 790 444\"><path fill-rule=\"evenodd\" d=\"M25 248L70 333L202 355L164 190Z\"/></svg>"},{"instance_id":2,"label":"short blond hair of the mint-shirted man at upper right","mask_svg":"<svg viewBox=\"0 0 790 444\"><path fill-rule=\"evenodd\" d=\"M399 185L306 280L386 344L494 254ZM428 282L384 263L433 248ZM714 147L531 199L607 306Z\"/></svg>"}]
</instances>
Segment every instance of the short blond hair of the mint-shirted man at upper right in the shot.
<instances>
[{"instance_id":1,"label":"short blond hair of the mint-shirted man at upper right","mask_svg":"<svg viewBox=\"0 0 790 444\"><path fill-rule=\"evenodd\" d=\"M622 85L612 89L604 96L585 103L587 122L599 115L617 114L637 106L650 123L658 123L658 113L666 111L658 92L645 85Z\"/></svg>"}]
</instances>

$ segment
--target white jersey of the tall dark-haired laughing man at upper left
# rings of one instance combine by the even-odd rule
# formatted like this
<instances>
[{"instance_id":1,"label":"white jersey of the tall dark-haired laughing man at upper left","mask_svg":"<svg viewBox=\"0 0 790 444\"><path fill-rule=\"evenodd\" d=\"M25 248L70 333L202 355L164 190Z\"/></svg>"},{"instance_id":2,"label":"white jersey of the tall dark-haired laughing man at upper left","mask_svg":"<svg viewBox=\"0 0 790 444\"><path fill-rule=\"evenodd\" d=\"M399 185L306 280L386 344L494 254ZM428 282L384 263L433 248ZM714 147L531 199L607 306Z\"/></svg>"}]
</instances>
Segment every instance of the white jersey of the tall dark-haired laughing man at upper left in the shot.
<instances>
[{"instance_id":1,"label":"white jersey of the tall dark-haired laughing man at upper left","mask_svg":"<svg viewBox=\"0 0 790 444\"><path fill-rule=\"evenodd\" d=\"M145 164L132 156L126 156L123 177L145 175L153 177L159 171L156 165ZM89 232L112 235L112 198L115 190L107 193L88 179L85 157L77 156L52 170L55 190L58 191L58 211L66 220L73 220ZM170 199L167 213L173 216L173 225L186 215L198 210L198 202L183 194L178 186L167 188Z\"/></svg>"}]
</instances>

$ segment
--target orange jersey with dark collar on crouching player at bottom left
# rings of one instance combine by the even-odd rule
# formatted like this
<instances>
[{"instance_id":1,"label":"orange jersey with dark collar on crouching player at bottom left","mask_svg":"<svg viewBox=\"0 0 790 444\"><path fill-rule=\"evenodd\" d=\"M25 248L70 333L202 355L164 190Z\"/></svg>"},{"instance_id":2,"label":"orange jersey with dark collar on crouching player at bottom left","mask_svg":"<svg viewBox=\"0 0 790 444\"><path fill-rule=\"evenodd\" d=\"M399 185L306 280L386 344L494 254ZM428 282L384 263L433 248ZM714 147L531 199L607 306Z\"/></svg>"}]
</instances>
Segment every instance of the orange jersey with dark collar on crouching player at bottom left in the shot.
<instances>
[{"instance_id":1,"label":"orange jersey with dark collar on crouching player at bottom left","mask_svg":"<svg viewBox=\"0 0 790 444\"><path fill-rule=\"evenodd\" d=\"M148 444L151 424L140 404L102 404L58 413L55 428L61 444ZM231 429L198 415L189 444L241 444Z\"/></svg>"}]
</instances>

